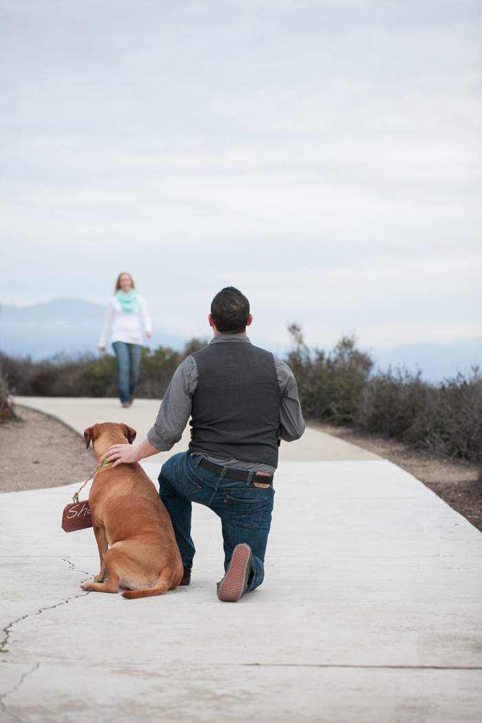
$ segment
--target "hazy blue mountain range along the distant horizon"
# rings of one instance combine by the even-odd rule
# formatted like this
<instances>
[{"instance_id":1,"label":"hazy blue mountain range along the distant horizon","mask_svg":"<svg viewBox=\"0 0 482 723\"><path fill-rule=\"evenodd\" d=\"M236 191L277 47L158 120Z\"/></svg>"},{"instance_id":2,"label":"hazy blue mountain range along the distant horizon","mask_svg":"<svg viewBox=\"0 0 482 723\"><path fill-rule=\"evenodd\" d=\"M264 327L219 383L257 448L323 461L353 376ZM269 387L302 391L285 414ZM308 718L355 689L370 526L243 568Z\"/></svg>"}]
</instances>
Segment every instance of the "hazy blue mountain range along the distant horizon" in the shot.
<instances>
[{"instance_id":1,"label":"hazy blue mountain range along the distant horizon","mask_svg":"<svg viewBox=\"0 0 482 723\"><path fill-rule=\"evenodd\" d=\"M98 354L98 339L106 307L82 299L54 299L31 307L1 307L0 351L10 356L31 356L35 361L55 354ZM153 334L149 346L181 349L187 338L182 335ZM264 343L275 354L280 344ZM288 346L286 347L288 349ZM482 367L482 338L449 344L416 343L397 346L373 354L376 367L405 366L421 369L423 378L432 382L467 374L470 367Z\"/></svg>"}]
</instances>

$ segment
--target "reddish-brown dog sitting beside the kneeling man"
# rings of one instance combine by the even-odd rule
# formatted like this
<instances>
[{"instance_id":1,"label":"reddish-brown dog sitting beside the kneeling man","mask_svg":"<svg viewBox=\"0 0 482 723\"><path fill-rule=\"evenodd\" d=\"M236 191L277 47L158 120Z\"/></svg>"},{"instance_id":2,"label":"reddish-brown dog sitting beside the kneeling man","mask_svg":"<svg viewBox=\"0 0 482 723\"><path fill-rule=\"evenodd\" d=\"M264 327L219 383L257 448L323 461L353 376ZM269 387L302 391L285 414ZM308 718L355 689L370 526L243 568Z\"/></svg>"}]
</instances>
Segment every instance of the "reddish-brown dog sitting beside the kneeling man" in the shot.
<instances>
[{"instance_id":1,"label":"reddish-brown dog sitting beside the kneeling man","mask_svg":"<svg viewBox=\"0 0 482 723\"><path fill-rule=\"evenodd\" d=\"M98 464L111 445L132 444L136 432L126 424L94 424L84 432ZM124 597L162 595L181 582L183 566L168 511L154 485L136 462L110 464L95 475L89 495L100 573L85 590L129 592ZM107 578L107 580L106 580ZM106 580L106 582L103 582Z\"/></svg>"}]
</instances>

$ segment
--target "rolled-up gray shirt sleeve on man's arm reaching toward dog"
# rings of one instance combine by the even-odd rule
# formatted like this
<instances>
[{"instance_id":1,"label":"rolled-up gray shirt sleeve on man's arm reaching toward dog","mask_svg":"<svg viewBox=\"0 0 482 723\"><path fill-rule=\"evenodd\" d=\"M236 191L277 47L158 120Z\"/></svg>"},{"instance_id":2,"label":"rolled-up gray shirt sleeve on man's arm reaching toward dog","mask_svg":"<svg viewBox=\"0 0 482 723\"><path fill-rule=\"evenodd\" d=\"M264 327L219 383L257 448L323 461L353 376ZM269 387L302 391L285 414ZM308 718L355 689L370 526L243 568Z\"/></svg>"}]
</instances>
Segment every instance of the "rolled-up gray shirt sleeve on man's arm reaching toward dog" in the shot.
<instances>
[{"instance_id":1,"label":"rolled-up gray shirt sleeve on man's arm reaching toward dog","mask_svg":"<svg viewBox=\"0 0 482 723\"><path fill-rule=\"evenodd\" d=\"M160 452L168 452L181 439L191 416L192 395L198 378L194 356L188 356L174 372L154 427L147 432L147 440Z\"/></svg>"}]
</instances>

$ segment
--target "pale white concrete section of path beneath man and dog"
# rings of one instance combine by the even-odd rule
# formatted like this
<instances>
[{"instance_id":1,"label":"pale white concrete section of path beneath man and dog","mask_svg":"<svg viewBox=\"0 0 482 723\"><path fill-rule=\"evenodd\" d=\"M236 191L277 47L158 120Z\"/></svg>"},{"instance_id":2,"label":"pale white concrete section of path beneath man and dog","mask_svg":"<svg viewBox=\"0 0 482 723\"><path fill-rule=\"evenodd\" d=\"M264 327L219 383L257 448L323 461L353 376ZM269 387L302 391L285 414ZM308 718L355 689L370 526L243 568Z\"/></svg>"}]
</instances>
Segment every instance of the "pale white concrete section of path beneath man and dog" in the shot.
<instances>
[{"instance_id":1,"label":"pale white concrete section of path beneath man and dog","mask_svg":"<svg viewBox=\"0 0 482 723\"><path fill-rule=\"evenodd\" d=\"M127 601L79 587L77 484L1 495L1 722L479 723L482 535L376 458L282 461L275 487L266 579L235 605L199 505L191 586Z\"/></svg>"}]
</instances>

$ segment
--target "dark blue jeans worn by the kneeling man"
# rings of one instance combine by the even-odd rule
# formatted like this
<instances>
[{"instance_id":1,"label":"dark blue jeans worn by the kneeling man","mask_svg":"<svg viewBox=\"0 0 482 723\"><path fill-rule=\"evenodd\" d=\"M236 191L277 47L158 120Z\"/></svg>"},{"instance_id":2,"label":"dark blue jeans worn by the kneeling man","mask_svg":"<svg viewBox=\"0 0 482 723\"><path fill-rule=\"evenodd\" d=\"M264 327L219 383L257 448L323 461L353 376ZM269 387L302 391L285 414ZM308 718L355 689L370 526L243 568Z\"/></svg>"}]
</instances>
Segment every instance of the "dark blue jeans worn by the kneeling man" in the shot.
<instances>
[{"instance_id":1,"label":"dark blue jeans worn by the kneeling man","mask_svg":"<svg viewBox=\"0 0 482 723\"><path fill-rule=\"evenodd\" d=\"M226 471L227 467L224 468ZM197 466L189 452L173 455L159 475L159 496L171 515L183 565L192 567L196 549L191 539L191 502L209 507L221 518L224 569L237 544L246 542L253 552L253 578L249 590L264 578L264 553L271 525L275 490L254 487Z\"/></svg>"}]
</instances>

